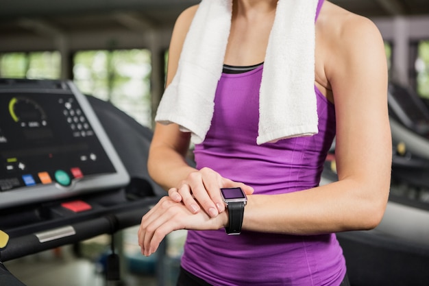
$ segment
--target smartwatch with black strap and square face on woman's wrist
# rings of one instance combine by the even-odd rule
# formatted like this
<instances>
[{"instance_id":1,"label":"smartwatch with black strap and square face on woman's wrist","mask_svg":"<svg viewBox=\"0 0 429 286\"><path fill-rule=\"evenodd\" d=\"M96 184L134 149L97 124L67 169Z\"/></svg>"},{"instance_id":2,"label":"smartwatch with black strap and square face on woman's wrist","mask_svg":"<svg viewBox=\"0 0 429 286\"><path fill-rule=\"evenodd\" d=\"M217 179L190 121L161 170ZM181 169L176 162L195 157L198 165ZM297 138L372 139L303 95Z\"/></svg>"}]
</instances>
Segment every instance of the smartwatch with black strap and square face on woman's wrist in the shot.
<instances>
[{"instance_id":1,"label":"smartwatch with black strap and square face on woman's wrist","mask_svg":"<svg viewBox=\"0 0 429 286\"><path fill-rule=\"evenodd\" d=\"M222 188L221 195L228 208L229 226L225 227L228 235L239 235L243 225L244 207L247 202L245 192L241 188Z\"/></svg>"}]
</instances>

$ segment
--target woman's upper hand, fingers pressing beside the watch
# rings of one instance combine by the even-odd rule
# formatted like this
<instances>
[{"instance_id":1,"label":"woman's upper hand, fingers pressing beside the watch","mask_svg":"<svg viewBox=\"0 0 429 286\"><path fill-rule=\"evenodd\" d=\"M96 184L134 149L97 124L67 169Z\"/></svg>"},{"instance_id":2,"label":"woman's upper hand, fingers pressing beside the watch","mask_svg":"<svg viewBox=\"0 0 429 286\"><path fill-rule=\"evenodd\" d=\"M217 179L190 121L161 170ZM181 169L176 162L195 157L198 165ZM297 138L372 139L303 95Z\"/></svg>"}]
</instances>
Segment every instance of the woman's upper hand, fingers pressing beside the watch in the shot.
<instances>
[{"instance_id":1,"label":"woman's upper hand, fingers pressing beside the watch","mask_svg":"<svg viewBox=\"0 0 429 286\"><path fill-rule=\"evenodd\" d=\"M216 217L225 211L220 189L232 187L241 187L247 195L254 192L252 187L223 178L217 171L205 167L189 174L177 188L169 189L169 197L183 202L192 213L198 213L202 207L210 217Z\"/></svg>"}]
</instances>

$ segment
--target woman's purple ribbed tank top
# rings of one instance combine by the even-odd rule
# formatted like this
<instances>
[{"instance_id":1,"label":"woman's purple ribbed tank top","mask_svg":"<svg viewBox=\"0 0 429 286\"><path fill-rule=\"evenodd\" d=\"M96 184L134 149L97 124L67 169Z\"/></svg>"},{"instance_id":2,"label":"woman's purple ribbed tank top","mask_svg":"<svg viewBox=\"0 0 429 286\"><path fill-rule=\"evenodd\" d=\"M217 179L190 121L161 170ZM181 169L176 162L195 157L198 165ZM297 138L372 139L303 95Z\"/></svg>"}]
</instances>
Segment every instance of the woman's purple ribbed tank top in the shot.
<instances>
[{"instance_id":1,"label":"woman's purple ribbed tank top","mask_svg":"<svg viewBox=\"0 0 429 286\"><path fill-rule=\"evenodd\" d=\"M197 168L215 169L225 178L249 184L258 194L316 187L335 136L334 106L315 87L319 133L257 145L262 69L221 76L210 130L195 146ZM345 275L345 259L334 234L243 231L228 236L223 229L189 230L182 267L219 286L335 286Z\"/></svg>"}]
</instances>

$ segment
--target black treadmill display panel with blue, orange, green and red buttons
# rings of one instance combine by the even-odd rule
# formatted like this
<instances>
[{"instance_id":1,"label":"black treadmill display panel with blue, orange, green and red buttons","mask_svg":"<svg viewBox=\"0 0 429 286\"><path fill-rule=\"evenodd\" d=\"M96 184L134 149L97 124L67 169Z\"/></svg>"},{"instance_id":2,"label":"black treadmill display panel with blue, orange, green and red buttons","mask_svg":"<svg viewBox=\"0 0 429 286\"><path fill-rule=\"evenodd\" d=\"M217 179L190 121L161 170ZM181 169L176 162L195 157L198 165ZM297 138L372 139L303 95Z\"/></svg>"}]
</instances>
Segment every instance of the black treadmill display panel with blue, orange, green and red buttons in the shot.
<instances>
[{"instance_id":1,"label":"black treadmill display panel with blue, orange, green and red buttons","mask_svg":"<svg viewBox=\"0 0 429 286\"><path fill-rule=\"evenodd\" d=\"M25 191L19 197L29 195L30 201L49 198L103 187L102 181L85 184L86 178L117 174L82 98L69 85L0 89L0 206L6 193Z\"/></svg>"}]
</instances>

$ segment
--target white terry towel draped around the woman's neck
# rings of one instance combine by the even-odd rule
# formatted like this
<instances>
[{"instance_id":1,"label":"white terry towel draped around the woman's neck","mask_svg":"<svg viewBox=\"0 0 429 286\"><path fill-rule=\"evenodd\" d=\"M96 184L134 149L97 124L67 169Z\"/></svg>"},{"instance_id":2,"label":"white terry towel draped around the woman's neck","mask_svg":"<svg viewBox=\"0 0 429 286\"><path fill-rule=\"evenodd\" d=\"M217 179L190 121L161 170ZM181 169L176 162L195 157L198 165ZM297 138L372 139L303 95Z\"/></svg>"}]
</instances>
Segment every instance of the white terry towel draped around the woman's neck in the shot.
<instances>
[{"instance_id":1,"label":"white terry towel draped around the woman's neck","mask_svg":"<svg viewBox=\"0 0 429 286\"><path fill-rule=\"evenodd\" d=\"M280 0L265 55L256 143L318 132L315 81L317 0ZM186 35L179 65L155 120L177 123L204 141L231 27L232 0L202 0ZM245 104L245 103L243 103Z\"/></svg>"}]
</instances>

